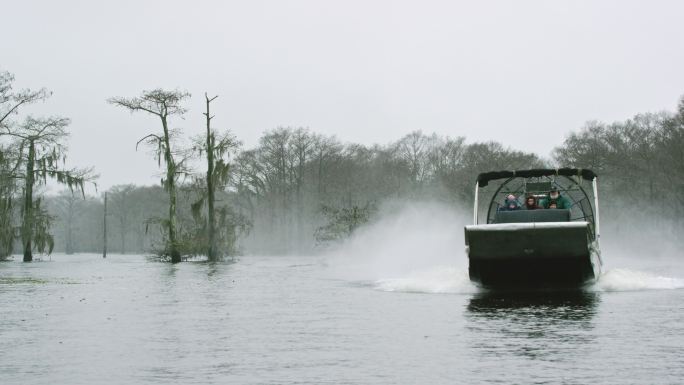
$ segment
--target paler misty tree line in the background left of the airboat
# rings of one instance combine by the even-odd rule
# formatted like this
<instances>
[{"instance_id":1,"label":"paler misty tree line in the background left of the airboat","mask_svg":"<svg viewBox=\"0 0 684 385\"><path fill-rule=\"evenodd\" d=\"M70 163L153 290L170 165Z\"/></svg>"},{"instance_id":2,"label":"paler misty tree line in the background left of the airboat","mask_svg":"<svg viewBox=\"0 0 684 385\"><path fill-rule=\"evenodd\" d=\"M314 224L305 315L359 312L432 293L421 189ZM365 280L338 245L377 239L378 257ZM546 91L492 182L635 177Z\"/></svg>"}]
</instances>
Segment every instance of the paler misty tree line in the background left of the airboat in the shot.
<instances>
[{"instance_id":1,"label":"paler misty tree line in the background left of the airboat","mask_svg":"<svg viewBox=\"0 0 684 385\"><path fill-rule=\"evenodd\" d=\"M229 254L289 254L310 253L350 235L387 199L470 205L480 169L544 163L498 143L466 144L464 138L419 131L387 145L363 146L284 127L265 132L255 148L240 149L226 165L228 179L216 196L223 210L216 213L217 228L233 247ZM197 229L194 210L203 190L194 181L177 189L176 230L187 237ZM160 225L168 215L164 186L114 186L108 200L111 251L158 251L168 243L166 225ZM102 197L84 200L65 190L48 197L47 206L56 218L58 250L100 250ZM187 249L181 254L206 255Z\"/></svg>"}]
</instances>

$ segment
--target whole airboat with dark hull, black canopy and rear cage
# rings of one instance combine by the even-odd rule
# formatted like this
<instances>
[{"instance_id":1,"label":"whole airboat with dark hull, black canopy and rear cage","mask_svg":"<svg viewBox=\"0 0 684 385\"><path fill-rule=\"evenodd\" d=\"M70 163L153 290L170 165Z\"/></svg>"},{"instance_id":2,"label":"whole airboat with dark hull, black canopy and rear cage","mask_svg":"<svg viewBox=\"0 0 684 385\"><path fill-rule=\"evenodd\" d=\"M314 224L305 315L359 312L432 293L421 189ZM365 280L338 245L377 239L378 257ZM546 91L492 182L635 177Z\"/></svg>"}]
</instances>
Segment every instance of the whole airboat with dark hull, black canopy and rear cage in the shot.
<instances>
[{"instance_id":1,"label":"whole airboat with dark hull, black canopy and rear cage","mask_svg":"<svg viewBox=\"0 0 684 385\"><path fill-rule=\"evenodd\" d=\"M569 208L506 210L506 197L548 199ZM465 227L470 280L490 289L577 289L601 273L596 174L559 168L478 175L474 224Z\"/></svg>"}]
</instances>

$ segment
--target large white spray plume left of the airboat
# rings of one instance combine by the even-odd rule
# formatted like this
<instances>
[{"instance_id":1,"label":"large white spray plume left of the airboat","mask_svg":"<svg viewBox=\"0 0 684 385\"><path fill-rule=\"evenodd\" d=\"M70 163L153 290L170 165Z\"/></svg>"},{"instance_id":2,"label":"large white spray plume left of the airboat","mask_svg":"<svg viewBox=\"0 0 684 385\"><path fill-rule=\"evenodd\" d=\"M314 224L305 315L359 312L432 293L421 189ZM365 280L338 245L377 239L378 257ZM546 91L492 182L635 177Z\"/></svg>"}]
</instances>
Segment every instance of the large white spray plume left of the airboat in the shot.
<instances>
[{"instance_id":1,"label":"large white spray plume left of the airboat","mask_svg":"<svg viewBox=\"0 0 684 385\"><path fill-rule=\"evenodd\" d=\"M475 291L464 251L466 215L421 202L384 205L379 217L331 252L336 275L385 291Z\"/></svg>"}]
</instances>

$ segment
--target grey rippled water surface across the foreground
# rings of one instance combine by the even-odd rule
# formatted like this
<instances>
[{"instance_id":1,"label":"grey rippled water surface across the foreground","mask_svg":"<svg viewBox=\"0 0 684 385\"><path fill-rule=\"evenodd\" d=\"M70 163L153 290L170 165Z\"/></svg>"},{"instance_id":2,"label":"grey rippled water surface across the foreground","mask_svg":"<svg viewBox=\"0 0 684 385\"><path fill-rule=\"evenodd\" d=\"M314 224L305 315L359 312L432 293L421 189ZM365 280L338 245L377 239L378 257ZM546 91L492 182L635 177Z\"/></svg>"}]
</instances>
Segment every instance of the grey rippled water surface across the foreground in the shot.
<instances>
[{"instance_id":1,"label":"grey rippled water surface across the foreground","mask_svg":"<svg viewBox=\"0 0 684 385\"><path fill-rule=\"evenodd\" d=\"M319 257L0 263L0 383L681 384L681 289L378 290Z\"/></svg>"}]
</instances>

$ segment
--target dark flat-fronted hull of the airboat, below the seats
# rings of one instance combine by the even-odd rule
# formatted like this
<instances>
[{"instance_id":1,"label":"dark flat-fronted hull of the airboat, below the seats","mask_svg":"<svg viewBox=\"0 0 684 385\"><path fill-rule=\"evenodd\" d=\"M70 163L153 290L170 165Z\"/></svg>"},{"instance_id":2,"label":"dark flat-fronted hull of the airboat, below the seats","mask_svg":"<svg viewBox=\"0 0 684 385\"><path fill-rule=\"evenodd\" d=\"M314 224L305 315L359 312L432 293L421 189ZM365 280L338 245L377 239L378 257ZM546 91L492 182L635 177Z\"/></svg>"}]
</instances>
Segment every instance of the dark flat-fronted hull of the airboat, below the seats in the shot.
<instances>
[{"instance_id":1,"label":"dark flat-fronted hull of the airboat, below the seats","mask_svg":"<svg viewBox=\"0 0 684 385\"><path fill-rule=\"evenodd\" d=\"M486 288L580 288L600 274L587 222L466 226L465 241L470 279Z\"/></svg>"}]
</instances>

